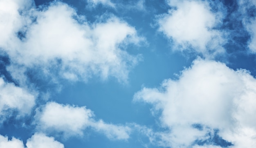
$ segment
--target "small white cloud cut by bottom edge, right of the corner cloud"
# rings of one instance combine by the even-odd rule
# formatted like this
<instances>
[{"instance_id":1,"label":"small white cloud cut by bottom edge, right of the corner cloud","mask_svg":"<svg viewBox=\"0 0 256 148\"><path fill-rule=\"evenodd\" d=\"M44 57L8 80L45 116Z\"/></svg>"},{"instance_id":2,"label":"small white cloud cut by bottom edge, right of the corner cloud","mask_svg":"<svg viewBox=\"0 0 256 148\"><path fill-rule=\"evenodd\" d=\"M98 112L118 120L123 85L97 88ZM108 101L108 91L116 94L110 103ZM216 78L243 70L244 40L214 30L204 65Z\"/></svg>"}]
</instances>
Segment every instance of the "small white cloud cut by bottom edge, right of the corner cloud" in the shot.
<instances>
[{"instance_id":1,"label":"small white cloud cut by bottom edge, right of the corner cloud","mask_svg":"<svg viewBox=\"0 0 256 148\"><path fill-rule=\"evenodd\" d=\"M27 140L27 148L64 148L64 145L54 140L54 137L47 137L42 133L36 133Z\"/></svg>"}]
</instances>

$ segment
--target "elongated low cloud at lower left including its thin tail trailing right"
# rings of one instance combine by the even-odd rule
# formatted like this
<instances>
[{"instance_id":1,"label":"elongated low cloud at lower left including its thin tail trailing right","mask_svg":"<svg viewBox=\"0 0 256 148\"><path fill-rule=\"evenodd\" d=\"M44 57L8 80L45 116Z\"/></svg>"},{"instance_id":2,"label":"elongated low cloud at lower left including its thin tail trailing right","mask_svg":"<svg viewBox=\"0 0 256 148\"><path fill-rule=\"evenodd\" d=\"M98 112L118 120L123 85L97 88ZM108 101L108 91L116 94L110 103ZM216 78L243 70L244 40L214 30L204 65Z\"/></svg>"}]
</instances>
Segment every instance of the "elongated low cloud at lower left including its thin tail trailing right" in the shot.
<instances>
[{"instance_id":1,"label":"elongated low cloud at lower left including its thin tail trailing right","mask_svg":"<svg viewBox=\"0 0 256 148\"><path fill-rule=\"evenodd\" d=\"M70 106L48 102L36 114L38 130L64 133L65 137L83 135L85 128L90 127L103 133L110 139L128 139L130 128L106 124L104 121L95 121L93 113L85 106Z\"/></svg>"}]
</instances>

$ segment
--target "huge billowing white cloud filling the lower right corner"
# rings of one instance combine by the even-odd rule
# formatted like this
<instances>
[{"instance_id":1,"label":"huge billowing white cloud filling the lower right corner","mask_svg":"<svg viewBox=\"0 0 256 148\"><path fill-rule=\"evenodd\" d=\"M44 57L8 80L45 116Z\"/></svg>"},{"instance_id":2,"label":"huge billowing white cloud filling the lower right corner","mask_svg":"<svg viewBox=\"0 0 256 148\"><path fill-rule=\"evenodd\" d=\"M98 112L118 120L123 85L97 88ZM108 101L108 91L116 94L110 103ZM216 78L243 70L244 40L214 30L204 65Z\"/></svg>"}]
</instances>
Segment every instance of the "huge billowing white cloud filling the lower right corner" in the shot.
<instances>
[{"instance_id":1,"label":"huge billowing white cloud filling the lower right corner","mask_svg":"<svg viewBox=\"0 0 256 148\"><path fill-rule=\"evenodd\" d=\"M202 59L177 80L164 80L160 88L143 88L134 96L153 104L153 113L160 113L161 126L168 129L148 132L152 141L175 148L218 146L212 140L216 136L232 148L255 147L255 98L256 79L248 71Z\"/></svg>"}]
</instances>

